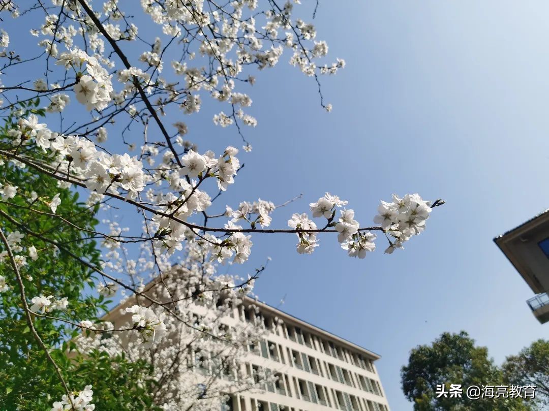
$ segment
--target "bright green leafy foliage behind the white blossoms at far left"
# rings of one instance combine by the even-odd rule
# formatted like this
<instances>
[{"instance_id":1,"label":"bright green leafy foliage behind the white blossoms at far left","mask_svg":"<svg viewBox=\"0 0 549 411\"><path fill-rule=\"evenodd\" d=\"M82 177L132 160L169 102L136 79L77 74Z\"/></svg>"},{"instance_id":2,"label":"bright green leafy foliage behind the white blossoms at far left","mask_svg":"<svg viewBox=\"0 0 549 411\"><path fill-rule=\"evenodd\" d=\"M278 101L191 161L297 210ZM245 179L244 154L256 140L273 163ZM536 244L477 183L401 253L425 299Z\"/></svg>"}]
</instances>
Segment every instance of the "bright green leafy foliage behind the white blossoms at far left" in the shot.
<instances>
[{"instance_id":1,"label":"bright green leafy foliage behind the white blossoms at far left","mask_svg":"<svg viewBox=\"0 0 549 411\"><path fill-rule=\"evenodd\" d=\"M24 108L25 114L40 110L36 104ZM0 128L0 148L9 149L6 136L15 119L8 117ZM24 150L21 147L20 150ZM79 201L79 194L58 186L57 180L30 167L21 167L0 156L0 184L18 187L15 198L0 199L0 227L9 233L24 234L23 247L17 254L25 255L27 264L21 267L27 302L38 295L67 297L69 306L56 310L55 317L79 323L97 321L100 310L108 309L102 296L94 296L94 273L81 261L100 263L97 244L86 230L93 230L97 206L88 207ZM30 204L31 192L38 198ZM57 216L52 215L48 201L60 194ZM70 222L64 222L60 216ZM56 251L54 244L59 245ZM32 261L28 247L36 247L38 258ZM4 249L0 246L0 251ZM43 350L33 338L25 319L20 288L9 260L0 260L0 275L9 285L0 293L0 411L49 410L60 401L63 387ZM86 357L67 353L67 344L77 331L60 321L33 316L38 335L51 348L51 354L63 371L71 390L80 391L92 384L94 403L98 409L152 409L147 382L150 369L143 362L131 363L124 357L110 358L94 352ZM139 382L142 381L142 382Z\"/></svg>"}]
</instances>

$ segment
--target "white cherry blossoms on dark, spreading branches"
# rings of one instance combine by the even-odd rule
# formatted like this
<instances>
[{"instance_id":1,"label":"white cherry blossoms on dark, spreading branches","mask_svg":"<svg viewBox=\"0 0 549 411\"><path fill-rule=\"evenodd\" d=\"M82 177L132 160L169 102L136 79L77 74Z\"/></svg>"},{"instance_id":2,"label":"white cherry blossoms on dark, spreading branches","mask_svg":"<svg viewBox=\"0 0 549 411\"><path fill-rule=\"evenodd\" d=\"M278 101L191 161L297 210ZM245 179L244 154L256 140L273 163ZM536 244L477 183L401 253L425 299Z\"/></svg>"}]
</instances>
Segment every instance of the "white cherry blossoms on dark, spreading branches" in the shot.
<instances>
[{"instance_id":1,"label":"white cherry blossoms on dark, spreading branches","mask_svg":"<svg viewBox=\"0 0 549 411\"><path fill-rule=\"evenodd\" d=\"M189 364L214 369L219 367L216 356L236 364L262 330L245 325L227 329L222 318L244 304L263 268L256 274L222 275L217 264L249 261L259 241L256 233L295 234L296 251L308 255L318 249L321 236L332 236L333 246L358 258L374 251L377 233L388 240L385 252L391 254L422 233L433 207L444 204L424 201L418 194L393 195L379 205L377 226L366 227L358 223L360 216L355 219L353 209L344 208L348 201L326 193L309 204L310 215L293 213L287 228L279 228L289 215L282 207L299 196L278 205L240 198L231 206L223 204L221 195L238 182L245 157L251 155L247 131L261 120L251 112L255 98L250 86L262 80L257 72L286 61L313 82L322 111L333 109L324 101L320 78L346 64L328 57L328 42L299 15L297 1L143 0L144 19L134 17L138 4L133 2L54 0L48 7L21 5L21 10L12 3L3 13L21 20L33 17L24 20L29 27L21 24L25 30L10 35L28 36L31 47L12 50L8 33L0 29L0 112L7 121L0 161L85 193L84 201L102 220L97 232L86 233L99 239L102 251L98 266L89 263L97 274L97 292L122 298L122 325L94 324L85 318L70 323L89 334L78 339L83 352L97 348L114 355L121 341L130 341L129 355L142 358L154 347L157 376L172 372L174 347ZM132 53L125 54L129 49ZM15 64L10 55L21 55L22 60ZM23 64L27 70L19 70ZM206 104L208 98L213 109ZM207 121L220 126L219 133L228 129L237 134L241 142L235 145L242 145L243 152L230 145L233 140L219 145L217 136L201 135L194 117L204 112ZM8 206L16 198L32 212L71 223L65 207L58 208L60 194L49 198L41 187L32 187L31 194L2 178L0 196ZM256 199L255 189L249 187L245 198ZM113 213L127 215L131 227L109 217ZM37 250L32 236L21 232L7 235L14 269L40 262L39 254L55 257L63 250L54 239ZM7 256L8 250L0 250L0 263L7 264ZM0 291L10 287L7 278L0 277ZM31 300L33 317L54 310L66 314L75 303L44 293ZM210 309L212 316L199 316L197 307ZM113 336L102 339L105 330ZM121 336L124 333L133 340ZM174 333L190 340L174 340ZM234 345L227 348L229 340ZM241 377L239 389L253 385ZM217 398L196 404L197 387L207 382L173 371L166 386L159 387L165 398L160 405L166 410L219 408L219 398L228 392L219 381ZM175 392L189 395L177 397ZM91 386L68 392L53 403L52 411L72 404L91 411L92 395Z\"/></svg>"}]
</instances>

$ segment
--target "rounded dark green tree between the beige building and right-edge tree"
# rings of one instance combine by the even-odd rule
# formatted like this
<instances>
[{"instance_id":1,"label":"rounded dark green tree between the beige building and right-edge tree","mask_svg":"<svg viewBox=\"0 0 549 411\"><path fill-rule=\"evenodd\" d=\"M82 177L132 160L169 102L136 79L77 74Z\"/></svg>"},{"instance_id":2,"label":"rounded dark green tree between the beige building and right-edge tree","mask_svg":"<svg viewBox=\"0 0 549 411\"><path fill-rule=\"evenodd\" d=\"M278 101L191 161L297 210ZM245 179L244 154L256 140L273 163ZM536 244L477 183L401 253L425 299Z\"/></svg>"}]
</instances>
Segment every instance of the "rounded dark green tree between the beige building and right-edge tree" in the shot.
<instances>
[{"instance_id":1,"label":"rounded dark green tree between the beige building and right-edge tree","mask_svg":"<svg viewBox=\"0 0 549 411\"><path fill-rule=\"evenodd\" d=\"M414 403L417 411L442 410L526 410L520 398L469 399L466 389L476 385L502 385L503 375L486 347L475 346L465 331L459 334L442 333L430 345L420 345L410 352L408 364L401 369L404 395ZM437 398L437 385L461 384L461 398Z\"/></svg>"}]
</instances>

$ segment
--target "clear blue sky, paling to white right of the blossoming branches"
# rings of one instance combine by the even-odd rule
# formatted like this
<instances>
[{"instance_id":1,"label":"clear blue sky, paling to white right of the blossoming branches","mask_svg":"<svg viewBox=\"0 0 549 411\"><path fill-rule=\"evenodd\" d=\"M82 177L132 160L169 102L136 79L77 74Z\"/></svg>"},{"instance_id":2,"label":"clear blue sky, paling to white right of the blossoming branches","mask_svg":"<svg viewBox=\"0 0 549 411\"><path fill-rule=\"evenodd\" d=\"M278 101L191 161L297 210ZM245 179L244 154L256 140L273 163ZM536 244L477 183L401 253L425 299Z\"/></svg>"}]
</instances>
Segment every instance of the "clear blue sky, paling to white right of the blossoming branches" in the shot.
<instances>
[{"instance_id":1,"label":"clear blue sky, paling to white right of the blossoming branches","mask_svg":"<svg viewBox=\"0 0 549 411\"><path fill-rule=\"evenodd\" d=\"M312 12L314 2L303 3ZM323 78L333 112L288 55L249 91L254 150L239 156L245 168L217 207L303 193L273 216L284 228L329 191L367 226L391 193L447 201L390 256L381 239L355 260L333 235L302 256L294 235L256 234L244 267L271 256L256 283L261 300L278 306L285 296L284 311L381 354L395 411L412 408L400 390L408 352L443 331L468 331L497 363L547 336L525 303L533 292L492 238L549 207L548 14L542 1L321 0L318 38L347 63ZM18 42L16 22L7 25ZM200 152L240 147L234 130L211 124L208 106L189 139Z\"/></svg>"}]
</instances>

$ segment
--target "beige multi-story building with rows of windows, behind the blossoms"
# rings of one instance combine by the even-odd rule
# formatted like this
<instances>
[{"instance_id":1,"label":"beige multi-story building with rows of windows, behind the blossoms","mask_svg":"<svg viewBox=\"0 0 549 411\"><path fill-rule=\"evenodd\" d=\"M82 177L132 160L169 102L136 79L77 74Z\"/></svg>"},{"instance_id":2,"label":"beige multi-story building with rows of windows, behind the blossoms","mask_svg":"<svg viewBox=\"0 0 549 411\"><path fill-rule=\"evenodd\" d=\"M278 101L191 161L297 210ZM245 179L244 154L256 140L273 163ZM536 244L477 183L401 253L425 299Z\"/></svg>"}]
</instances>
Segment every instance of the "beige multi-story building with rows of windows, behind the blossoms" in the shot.
<instances>
[{"instance_id":1,"label":"beige multi-story building with rows of windows, behind the blossoms","mask_svg":"<svg viewBox=\"0 0 549 411\"><path fill-rule=\"evenodd\" d=\"M378 354L249 297L226 318L229 326L240 321L267 330L242 358L245 374L262 369L278 378L232 393L227 411L389 411L374 365ZM211 370L196 367L193 372Z\"/></svg>"}]
</instances>

